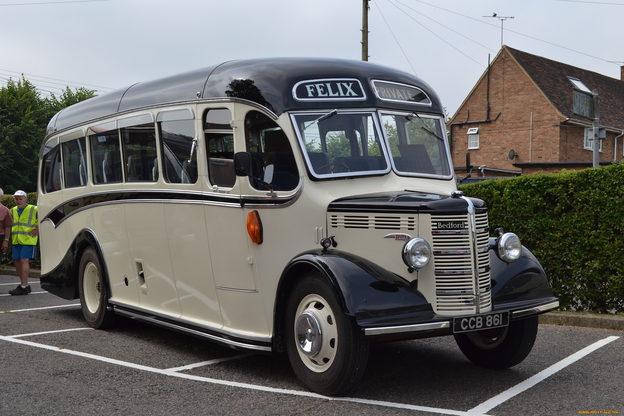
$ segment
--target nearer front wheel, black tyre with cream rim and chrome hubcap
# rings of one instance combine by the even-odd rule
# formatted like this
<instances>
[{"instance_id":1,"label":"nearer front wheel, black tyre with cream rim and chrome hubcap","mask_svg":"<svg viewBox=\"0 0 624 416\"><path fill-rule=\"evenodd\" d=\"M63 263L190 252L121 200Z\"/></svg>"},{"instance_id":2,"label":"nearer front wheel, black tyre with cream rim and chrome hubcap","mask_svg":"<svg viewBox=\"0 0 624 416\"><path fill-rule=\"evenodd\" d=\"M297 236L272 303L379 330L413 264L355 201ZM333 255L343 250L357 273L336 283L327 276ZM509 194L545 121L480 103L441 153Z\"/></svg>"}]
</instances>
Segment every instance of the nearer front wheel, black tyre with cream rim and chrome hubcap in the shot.
<instances>
[{"instance_id":1,"label":"nearer front wheel, black tyre with cream rim and chrome hubcap","mask_svg":"<svg viewBox=\"0 0 624 416\"><path fill-rule=\"evenodd\" d=\"M298 379L318 394L345 394L364 375L368 347L324 276L303 275L286 304L286 351Z\"/></svg>"}]
</instances>

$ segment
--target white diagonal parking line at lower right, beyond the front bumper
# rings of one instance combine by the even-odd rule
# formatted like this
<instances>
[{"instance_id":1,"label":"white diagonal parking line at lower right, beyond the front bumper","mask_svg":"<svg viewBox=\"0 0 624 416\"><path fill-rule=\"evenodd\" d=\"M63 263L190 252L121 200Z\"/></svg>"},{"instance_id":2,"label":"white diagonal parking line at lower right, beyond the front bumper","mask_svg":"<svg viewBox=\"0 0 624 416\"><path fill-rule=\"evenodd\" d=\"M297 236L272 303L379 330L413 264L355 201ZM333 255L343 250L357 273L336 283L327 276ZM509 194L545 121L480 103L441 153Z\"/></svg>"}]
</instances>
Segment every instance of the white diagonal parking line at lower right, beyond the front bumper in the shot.
<instances>
[{"instance_id":1,"label":"white diagonal parking line at lower right, beyond the front bumper","mask_svg":"<svg viewBox=\"0 0 624 416\"><path fill-rule=\"evenodd\" d=\"M468 410L468 413L473 414L474 412L475 415L480 415L480 414L484 414L485 412L489 412L489 410L494 409L494 407L498 406L499 404L502 404L503 402L511 399L515 395L524 392L524 390L530 389L535 384L546 379L547 377L550 377L550 375L555 374L558 370L564 369L565 367L572 364L573 362L582 359L583 357L587 356L587 354L590 354L591 352L596 351L598 348L605 346L609 342L613 342L618 338L619 337L611 336L605 339L601 339L598 342L594 342L592 345L587 346L583 348L582 350L575 352L571 356L564 358L563 360L551 365L547 369L540 371L539 373L535 374L532 377L529 377L528 379L524 380L522 383L514 385L514 387L512 387L511 389L505 390L499 395L495 395L494 397L492 397L492 399L485 400L485 402L478 405L477 407L474 407L473 409Z\"/></svg>"}]
</instances>

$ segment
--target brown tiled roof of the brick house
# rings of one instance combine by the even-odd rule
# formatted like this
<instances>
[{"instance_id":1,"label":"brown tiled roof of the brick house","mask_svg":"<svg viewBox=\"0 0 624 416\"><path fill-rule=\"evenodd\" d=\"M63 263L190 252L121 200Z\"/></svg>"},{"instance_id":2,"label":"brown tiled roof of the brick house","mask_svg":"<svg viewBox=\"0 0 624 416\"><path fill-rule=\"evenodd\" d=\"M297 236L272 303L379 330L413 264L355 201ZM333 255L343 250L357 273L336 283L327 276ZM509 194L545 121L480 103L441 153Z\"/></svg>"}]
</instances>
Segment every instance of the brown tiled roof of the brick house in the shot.
<instances>
[{"instance_id":1,"label":"brown tiled roof of the brick house","mask_svg":"<svg viewBox=\"0 0 624 416\"><path fill-rule=\"evenodd\" d=\"M583 119L573 114L572 83L567 79L578 78L588 89L598 90L600 94L600 124L624 129L624 81L509 46L506 48L565 117Z\"/></svg>"}]
</instances>

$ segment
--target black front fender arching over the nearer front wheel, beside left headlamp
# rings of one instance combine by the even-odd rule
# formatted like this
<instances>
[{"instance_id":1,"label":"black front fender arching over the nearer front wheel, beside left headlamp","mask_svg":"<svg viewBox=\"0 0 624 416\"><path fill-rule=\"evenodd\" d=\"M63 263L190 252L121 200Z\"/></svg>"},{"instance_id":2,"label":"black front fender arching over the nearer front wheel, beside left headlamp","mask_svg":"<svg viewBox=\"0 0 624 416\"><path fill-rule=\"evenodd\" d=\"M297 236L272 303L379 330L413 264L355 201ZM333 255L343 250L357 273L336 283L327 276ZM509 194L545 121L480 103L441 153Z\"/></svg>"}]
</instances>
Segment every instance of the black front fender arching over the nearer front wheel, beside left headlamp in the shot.
<instances>
[{"instance_id":1,"label":"black front fender arching over the nearer front wheel, beside left headlamp","mask_svg":"<svg viewBox=\"0 0 624 416\"><path fill-rule=\"evenodd\" d=\"M358 324L390 316L414 317L432 313L431 304L416 286L356 254L336 249L307 251L288 263L281 279L303 264L328 278L336 289L343 312L355 317Z\"/></svg>"}]
</instances>

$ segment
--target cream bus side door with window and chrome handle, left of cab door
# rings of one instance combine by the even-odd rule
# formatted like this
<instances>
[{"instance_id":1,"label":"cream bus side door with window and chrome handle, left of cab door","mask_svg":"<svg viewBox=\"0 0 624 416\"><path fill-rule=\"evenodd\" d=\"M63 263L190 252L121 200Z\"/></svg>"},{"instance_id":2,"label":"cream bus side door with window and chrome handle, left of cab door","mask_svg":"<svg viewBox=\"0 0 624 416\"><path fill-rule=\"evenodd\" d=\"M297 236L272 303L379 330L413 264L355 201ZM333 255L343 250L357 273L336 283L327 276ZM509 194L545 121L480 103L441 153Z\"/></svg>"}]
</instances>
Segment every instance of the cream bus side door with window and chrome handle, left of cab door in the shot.
<instances>
[{"instance_id":1,"label":"cream bus side door with window and chrome handle, left of cab door","mask_svg":"<svg viewBox=\"0 0 624 416\"><path fill-rule=\"evenodd\" d=\"M198 203L201 198L195 198L203 190L198 160L205 158L195 115L193 109L165 110L156 122L162 161L158 188L168 190L175 200L163 208L182 317L221 327L204 207Z\"/></svg>"}]
</instances>

